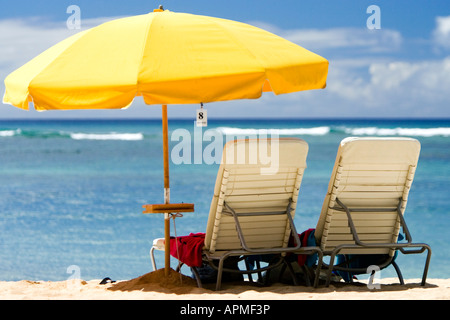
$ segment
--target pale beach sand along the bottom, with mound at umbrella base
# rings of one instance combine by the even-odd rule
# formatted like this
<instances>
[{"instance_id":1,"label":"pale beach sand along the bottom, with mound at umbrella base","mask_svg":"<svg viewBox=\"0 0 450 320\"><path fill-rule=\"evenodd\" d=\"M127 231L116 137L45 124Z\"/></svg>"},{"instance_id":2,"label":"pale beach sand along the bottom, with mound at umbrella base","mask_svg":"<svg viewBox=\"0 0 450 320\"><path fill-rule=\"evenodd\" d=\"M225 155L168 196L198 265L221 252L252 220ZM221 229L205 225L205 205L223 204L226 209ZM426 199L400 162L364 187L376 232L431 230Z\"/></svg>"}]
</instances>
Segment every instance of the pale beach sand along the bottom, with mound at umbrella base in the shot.
<instances>
[{"instance_id":1,"label":"pale beach sand along the bottom, with mound at umbrella base","mask_svg":"<svg viewBox=\"0 0 450 320\"><path fill-rule=\"evenodd\" d=\"M332 283L328 288L274 283L258 287L247 283L224 283L221 291L213 285L198 288L196 282L171 270L150 272L131 280L100 284L99 280L0 281L1 300L448 300L450 279L381 279L379 289L369 289L362 280L353 284Z\"/></svg>"}]
</instances>

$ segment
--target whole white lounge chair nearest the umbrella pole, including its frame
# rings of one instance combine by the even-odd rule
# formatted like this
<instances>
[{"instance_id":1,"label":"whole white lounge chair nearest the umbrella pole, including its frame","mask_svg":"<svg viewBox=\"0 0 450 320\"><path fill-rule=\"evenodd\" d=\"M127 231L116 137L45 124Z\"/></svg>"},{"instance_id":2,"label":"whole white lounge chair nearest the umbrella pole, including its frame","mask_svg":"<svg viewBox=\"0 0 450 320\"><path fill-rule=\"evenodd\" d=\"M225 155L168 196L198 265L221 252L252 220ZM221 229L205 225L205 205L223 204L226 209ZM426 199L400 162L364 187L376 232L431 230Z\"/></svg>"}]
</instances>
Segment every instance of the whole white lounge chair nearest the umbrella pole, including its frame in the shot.
<instances>
[{"instance_id":1,"label":"whole white lounge chair nearest the umbrella pole, including its frame","mask_svg":"<svg viewBox=\"0 0 450 320\"><path fill-rule=\"evenodd\" d=\"M292 271L284 256L293 251L318 253L321 262L318 247L300 248L293 223L307 153L308 144L295 138L235 140L225 145L203 248L204 261L218 271L217 290L221 286L222 272L235 271L224 269L228 257L279 256L278 263L239 271L247 274L260 273L283 262ZM295 247L288 246L291 235ZM155 249L164 250L164 239L153 242L150 256L154 269ZM195 269L193 271L198 280ZM315 286L317 282L318 273Z\"/></svg>"}]
</instances>

